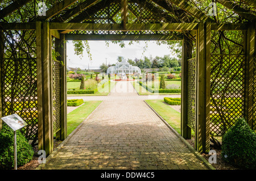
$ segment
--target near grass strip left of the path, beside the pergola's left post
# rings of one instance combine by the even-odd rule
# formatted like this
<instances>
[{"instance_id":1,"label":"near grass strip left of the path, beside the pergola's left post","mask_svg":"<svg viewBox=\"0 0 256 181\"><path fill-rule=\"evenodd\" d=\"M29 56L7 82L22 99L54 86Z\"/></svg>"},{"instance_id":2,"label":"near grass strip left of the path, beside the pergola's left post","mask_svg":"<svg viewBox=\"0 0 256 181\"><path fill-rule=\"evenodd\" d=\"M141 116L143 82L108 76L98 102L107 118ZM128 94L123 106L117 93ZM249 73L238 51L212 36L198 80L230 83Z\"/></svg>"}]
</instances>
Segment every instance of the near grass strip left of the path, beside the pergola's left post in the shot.
<instances>
[{"instance_id":1,"label":"near grass strip left of the path, beside the pergola's left post","mask_svg":"<svg viewBox=\"0 0 256 181\"><path fill-rule=\"evenodd\" d=\"M73 110L72 112L68 113L68 135L76 129L76 127L82 123L86 119L87 116L90 115L90 113L95 110L98 105L101 103L101 100L92 100L92 101L86 101L82 106L76 108L76 110Z\"/></svg>"}]
</instances>

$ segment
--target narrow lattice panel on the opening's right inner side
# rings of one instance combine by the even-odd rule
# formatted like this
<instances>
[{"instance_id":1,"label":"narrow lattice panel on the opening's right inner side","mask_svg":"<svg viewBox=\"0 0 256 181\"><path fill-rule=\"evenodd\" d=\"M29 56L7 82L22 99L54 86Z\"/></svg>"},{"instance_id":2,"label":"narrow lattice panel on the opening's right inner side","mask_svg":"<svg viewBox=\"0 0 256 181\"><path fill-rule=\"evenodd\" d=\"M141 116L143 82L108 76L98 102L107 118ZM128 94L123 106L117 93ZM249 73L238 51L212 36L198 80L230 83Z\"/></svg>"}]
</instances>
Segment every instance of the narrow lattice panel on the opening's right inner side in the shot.
<instances>
[{"instance_id":1,"label":"narrow lattice panel on the opening's right inner side","mask_svg":"<svg viewBox=\"0 0 256 181\"><path fill-rule=\"evenodd\" d=\"M195 131L196 124L196 58L188 60L188 126Z\"/></svg>"}]
</instances>

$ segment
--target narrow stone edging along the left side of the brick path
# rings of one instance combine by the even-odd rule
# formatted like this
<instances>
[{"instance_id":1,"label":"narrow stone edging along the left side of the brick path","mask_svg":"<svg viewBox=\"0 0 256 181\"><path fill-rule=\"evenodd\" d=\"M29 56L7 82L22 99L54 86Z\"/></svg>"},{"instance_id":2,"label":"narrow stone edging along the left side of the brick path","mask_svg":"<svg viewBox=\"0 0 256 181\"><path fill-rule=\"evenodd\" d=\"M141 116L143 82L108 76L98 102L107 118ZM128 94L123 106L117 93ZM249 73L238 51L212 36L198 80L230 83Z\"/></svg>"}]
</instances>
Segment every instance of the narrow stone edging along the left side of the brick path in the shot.
<instances>
[{"instance_id":1,"label":"narrow stone edging along the left side of the brick path","mask_svg":"<svg viewBox=\"0 0 256 181\"><path fill-rule=\"evenodd\" d=\"M104 101L102 101L104 102ZM66 144L66 142L68 142L68 140L81 128L81 126L85 123L86 120L89 119L90 116L92 116L92 114L94 113L94 111L96 111L98 109L98 107L100 107L100 105L102 104L102 102L85 118L84 121L82 121L82 123L80 123L76 129L74 129L67 138L65 138L65 140L63 142L61 142L61 144L59 146L57 146L57 148L55 150L52 151L51 154L48 155L48 157L46 158L46 163L41 163L38 167L36 167L35 170L42 170L42 168L47 164L47 162L54 157L61 148L63 148L63 146Z\"/></svg>"}]
</instances>

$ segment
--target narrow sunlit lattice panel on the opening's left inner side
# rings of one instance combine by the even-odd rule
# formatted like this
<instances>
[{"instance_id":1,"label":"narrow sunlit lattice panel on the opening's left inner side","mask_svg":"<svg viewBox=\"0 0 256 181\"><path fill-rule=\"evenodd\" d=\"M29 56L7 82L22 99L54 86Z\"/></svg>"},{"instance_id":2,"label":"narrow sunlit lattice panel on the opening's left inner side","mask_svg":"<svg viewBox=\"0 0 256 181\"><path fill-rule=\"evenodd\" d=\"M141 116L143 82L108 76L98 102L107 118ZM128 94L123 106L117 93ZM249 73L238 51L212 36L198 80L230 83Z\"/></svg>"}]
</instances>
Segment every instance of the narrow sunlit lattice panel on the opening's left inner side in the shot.
<instances>
[{"instance_id":1,"label":"narrow sunlit lattice panel on the opening's left inner side","mask_svg":"<svg viewBox=\"0 0 256 181\"><path fill-rule=\"evenodd\" d=\"M61 62L52 61L53 133L60 130L60 68Z\"/></svg>"}]
</instances>

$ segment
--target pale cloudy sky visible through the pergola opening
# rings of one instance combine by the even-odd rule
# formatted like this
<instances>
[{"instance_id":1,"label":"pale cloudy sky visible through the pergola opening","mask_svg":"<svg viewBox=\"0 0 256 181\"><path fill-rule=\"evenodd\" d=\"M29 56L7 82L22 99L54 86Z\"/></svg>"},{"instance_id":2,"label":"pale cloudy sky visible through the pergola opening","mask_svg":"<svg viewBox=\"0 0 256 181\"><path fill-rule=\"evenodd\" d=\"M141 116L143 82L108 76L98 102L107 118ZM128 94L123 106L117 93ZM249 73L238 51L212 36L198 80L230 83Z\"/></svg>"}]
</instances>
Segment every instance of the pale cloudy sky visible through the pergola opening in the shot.
<instances>
[{"instance_id":1,"label":"pale cloudy sky visible through the pergola opening","mask_svg":"<svg viewBox=\"0 0 256 181\"><path fill-rule=\"evenodd\" d=\"M89 61L88 54L84 50L83 56L76 56L72 41L67 43L67 66L69 68L80 68L80 69L100 69L100 65L115 64L117 63L117 57L123 56L126 60L130 58L142 58L144 56L153 58L156 56L162 57L166 54L172 56L171 50L168 49L167 45L157 45L156 41L149 41L146 51L143 53L143 49L146 45L145 41L139 41L129 45L129 41L125 41L125 48L121 48L119 44L114 44L109 41L109 46L106 45L105 41L88 41L90 46L90 53L92 54L92 61Z\"/></svg>"}]
</instances>

